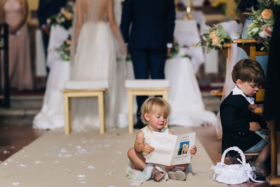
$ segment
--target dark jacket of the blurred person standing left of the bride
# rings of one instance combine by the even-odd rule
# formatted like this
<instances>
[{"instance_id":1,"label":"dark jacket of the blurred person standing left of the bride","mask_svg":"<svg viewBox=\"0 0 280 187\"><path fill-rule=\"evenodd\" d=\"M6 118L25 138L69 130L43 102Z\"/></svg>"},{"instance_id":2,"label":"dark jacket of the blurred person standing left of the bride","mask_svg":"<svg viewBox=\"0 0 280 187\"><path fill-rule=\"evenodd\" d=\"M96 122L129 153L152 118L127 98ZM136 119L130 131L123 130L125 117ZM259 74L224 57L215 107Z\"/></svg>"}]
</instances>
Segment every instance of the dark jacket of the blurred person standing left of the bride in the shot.
<instances>
[{"instance_id":1,"label":"dark jacket of the blurred person standing left of the bride","mask_svg":"<svg viewBox=\"0 0 280 187\"><path fill-rule=\"evenodd\" d=\"M67 0L40 0L37 10L37 17L39 19L40 26L46 24L46 20L58 13L61 7L66 5Z\"/></svg>"}]
</instances>

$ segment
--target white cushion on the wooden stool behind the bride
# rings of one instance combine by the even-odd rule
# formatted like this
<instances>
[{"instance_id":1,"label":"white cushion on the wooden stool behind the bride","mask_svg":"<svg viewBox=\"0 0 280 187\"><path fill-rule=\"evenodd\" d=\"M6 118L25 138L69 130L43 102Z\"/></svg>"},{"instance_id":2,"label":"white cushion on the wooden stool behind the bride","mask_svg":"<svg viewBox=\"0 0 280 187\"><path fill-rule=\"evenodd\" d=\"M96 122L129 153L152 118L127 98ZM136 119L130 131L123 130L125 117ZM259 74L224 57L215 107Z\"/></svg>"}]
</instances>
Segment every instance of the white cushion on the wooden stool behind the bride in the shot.
<instances>
[{"instance_id":1,"label":"white cushion on the wooden stool behind the bride","mask_svg":"<svg viewBox=\"0 0 280 187\"><path fill-rule=\"evenodd\" d=\"M100 89L108 87L109 83L107 80L67 81L65 83L65 89Z\"/></svg>"}]
</instances>

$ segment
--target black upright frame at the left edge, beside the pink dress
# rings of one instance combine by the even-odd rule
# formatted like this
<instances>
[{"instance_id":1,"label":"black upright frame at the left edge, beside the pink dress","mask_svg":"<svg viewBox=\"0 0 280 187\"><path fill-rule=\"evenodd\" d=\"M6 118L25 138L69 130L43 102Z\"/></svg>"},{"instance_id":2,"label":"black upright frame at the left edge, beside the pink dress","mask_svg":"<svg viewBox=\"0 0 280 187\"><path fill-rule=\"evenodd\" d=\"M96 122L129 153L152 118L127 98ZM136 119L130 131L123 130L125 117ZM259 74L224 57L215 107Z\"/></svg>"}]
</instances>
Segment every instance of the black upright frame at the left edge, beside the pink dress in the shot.
<instances>
[{"instance_id":1,"label":"black upright frame at the left edge, beside the pink dress","mask_svg":"<svg viewBox=\"0 0 280 187\"><path fill-rule=\"evenodd\" d=\"M0 41L2 41L2 47L0 47L0 101L5 108L10 108L9 31L7 24L0 24ZM3 58L1 57L2 54L4 55ZM1 62L2 60L4 60L4 63ZM2 64L3 67L1 67ZM4 91L2 90L2 78L4 78Z\"/></svg>"}]
</instances>

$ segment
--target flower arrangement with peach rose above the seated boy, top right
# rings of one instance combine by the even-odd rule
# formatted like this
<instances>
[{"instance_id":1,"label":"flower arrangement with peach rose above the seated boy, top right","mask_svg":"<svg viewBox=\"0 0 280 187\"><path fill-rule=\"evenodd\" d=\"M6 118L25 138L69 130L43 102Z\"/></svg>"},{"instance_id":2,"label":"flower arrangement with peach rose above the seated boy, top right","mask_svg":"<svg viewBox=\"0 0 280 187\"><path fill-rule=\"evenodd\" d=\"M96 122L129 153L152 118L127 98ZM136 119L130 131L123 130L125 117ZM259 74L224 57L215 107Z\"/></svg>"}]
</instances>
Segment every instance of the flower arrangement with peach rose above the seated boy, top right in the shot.
<instances>
[{"instance_id":1,"label":"flower arrangement with peach rose above the seated boy, top right","mask_svg":"<svg viewBox=\"0 0 280 187\"><path fill-rule=\"evenodd\" d=\"M248 35L245 38L254 38L264 45L261 50L269 50L275 14L279 5L274 0L258 0L258 2L260 4L259 10L244 12L252 20L247 26Z\"/></svg>"}]
</instances>

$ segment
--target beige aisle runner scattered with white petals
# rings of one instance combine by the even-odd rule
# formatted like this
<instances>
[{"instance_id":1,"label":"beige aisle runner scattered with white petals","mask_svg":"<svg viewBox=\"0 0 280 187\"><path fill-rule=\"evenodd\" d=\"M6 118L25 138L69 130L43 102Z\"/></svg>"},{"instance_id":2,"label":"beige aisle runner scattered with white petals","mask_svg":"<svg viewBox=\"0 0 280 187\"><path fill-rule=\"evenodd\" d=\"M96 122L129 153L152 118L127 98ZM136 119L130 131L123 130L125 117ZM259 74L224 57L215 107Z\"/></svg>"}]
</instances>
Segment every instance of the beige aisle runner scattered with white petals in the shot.
<instances>
[{"instance_id":1,"label":"beige aisle runner scattered with white petals","mask_svg":"<svg viewBox=\"0 0 280 187\"><path fill-rule=\"evenodd\" d=\"M175 135L192 132L186 127L171 127ZM0 164L0 186L21 187L126 187L131 182L126 177L127 151L133 147L137 131L128 130L72 133L64 135L63 129L47 132L30 145ZM16 138L16 137L15 137ZM214 165L196 138L197 153L192 157L193 177L185 181L148 180L142 187L165 186L227 186L212 181ZM84 175L84 177L83 177Z\"/></svg>"}]
</instances>

